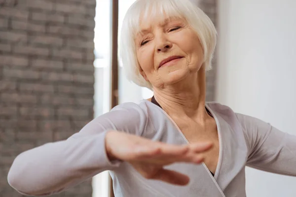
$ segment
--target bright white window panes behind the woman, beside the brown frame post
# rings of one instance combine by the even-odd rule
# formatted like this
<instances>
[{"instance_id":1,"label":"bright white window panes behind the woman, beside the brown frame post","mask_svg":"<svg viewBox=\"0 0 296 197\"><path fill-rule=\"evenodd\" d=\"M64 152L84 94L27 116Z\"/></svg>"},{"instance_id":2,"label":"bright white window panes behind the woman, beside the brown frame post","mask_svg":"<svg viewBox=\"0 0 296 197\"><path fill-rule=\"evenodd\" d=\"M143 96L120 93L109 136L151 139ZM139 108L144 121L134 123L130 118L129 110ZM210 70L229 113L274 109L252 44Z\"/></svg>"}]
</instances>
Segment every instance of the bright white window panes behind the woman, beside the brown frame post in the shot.
<instances>
[{"instance_id":1,"label":"bright white window panes behind the woman, beside the brown frame post","mask_svg":"<svg viewBox=\"0 0 296 197\"><path fill-rule=\"evenodd\" d=\"M124 15L135 0L119 0L118 30L120 31ZM97 0L95 16L95 117L110 111L111 89L111 0ZM118 33L118 39L119 33ZM123 76L122 66L118 68L119 104L139 102L152 96L147 88L141 88L129 82ZM109 173L102 172L93 178L93 197L109 197Z\"/></svg>"}]
</instances>

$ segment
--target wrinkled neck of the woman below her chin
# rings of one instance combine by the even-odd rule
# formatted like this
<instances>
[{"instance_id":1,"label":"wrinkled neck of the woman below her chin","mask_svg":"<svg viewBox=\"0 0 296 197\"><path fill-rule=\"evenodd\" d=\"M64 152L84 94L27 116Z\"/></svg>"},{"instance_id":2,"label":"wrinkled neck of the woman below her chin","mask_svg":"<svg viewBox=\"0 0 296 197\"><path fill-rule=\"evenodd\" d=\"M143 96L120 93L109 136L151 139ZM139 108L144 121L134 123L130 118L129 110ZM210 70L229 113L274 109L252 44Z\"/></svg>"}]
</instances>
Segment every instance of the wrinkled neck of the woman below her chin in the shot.
<instances>
[{"instance_id":1,"label":"wrinkled neck of the woman below her chin","mask_svg":"<svg viewBox=\"0 0 296 197\"><path fill-rule=\"evenodd\" d=\"M188 117L204 123L208 114L205 109L205 68L190 73L185 79L170 86L153 87L154 98L163 110L174 117Z\"/></svg>"}]
</instances>

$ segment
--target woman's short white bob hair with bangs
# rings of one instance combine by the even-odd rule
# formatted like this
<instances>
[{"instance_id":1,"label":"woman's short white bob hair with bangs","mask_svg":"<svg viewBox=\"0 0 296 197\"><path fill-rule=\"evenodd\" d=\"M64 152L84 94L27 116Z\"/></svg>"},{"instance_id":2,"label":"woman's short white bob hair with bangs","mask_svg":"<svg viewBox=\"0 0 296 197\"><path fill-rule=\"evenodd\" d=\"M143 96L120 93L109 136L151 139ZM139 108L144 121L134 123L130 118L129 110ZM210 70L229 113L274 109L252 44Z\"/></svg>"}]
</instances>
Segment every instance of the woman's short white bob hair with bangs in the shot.
<instances>
[{"instance_id":1,"label":"woman's short white bob hair with bangs","mask_svg":"<svg viewBox=\"0 0 296 197\"><path fill-rule=\"evenodd\" d=\"M165 16L164 16L165 13ZM197 33L203 47L206 70L211 62L217 41L217 31L211 19L190 0L137 0L128 9L121 28L119 43L120 61L128 80L152 90L152 85L140 73L135 37L140 30L141 17L183 18Z\"/></svg>"}]
</instances>

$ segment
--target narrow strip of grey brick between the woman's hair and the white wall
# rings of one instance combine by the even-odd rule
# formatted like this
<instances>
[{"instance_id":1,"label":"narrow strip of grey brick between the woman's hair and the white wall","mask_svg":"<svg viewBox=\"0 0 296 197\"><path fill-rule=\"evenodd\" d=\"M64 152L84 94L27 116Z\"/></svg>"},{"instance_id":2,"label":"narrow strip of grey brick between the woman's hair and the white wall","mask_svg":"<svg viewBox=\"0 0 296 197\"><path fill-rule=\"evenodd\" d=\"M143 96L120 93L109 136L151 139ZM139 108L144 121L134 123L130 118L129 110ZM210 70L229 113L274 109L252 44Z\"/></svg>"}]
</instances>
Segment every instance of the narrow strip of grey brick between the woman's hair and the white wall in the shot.
<instances>
[{"instance_id":1,"label":"narrow strip of grey brick between the woman's hair and the white wall","mask_svg":"<svg viewBox=\"0 0 296 197\"><path fill-rule=\"evenodd\" d=\"M217 0L193 0L198 4L198 6L210 17L215 27L217 28ZM212 62L213 69L207 72L206 75L206 100L215 100L215 80L216 80L216 67L217 67L217 57L214 55Z\"/></svg>"}]
</instances>

